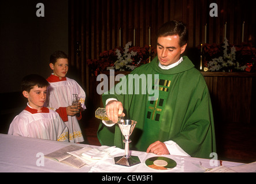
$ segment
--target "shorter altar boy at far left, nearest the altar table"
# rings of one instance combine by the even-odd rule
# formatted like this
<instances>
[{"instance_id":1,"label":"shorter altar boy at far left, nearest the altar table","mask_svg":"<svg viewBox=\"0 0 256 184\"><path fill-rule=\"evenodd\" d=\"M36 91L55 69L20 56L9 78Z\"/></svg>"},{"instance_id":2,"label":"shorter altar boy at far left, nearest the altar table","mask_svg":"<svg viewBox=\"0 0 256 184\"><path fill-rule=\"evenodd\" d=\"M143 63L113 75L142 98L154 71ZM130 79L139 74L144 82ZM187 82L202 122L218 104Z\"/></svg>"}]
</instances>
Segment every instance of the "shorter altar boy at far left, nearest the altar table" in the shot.
<instances>
[{"instance_id":1,"label":"shorter altar boy at far left, nearest the altar table","mask_svg":"<svg viewBox=\"0 0 256 184\"><path fill-rule=\"evenodd\" d=\"M9 135L68 141L68 128L54 110L43 107L49 83L40 75L25 76L21 82L27 107L10 124Z\"/></svg>"}]
</instances>

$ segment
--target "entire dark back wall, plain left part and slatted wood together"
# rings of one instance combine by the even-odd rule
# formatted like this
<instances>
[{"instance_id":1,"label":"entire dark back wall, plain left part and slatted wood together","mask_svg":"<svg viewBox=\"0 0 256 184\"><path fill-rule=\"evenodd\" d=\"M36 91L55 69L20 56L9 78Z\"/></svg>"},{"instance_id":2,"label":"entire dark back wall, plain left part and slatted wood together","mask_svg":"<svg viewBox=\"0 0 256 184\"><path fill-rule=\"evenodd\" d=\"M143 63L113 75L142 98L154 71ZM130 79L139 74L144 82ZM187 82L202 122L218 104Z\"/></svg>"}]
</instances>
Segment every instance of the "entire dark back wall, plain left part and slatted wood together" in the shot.
<instances>
[{"instance_id":1,"label":"entire dark back wall, plain left part and slatted wood together","mask_svg":"<svg viewBox=\"0 0 256 184\"><path fill-rule=\"evenodd\" d=\"M36 4L44 4L44 17L36 16ZM218 17L210 17L210 3L218 5ZM227 22L227 39L240 44L242 24L244 41L255 43L255 2L241 0L27 0L0 2L0 93L20 91L23 76L35 72L47 77L51 70L48 60L55 50L69 53L75 77L90 89L87 59L98 59L99 53L133 41L143 47L155 46L159 26L169 20L181 20L189 29L188 55L201 43L222 43L224 24ZM80 55L76 55L79 43ZM193 58L195 64L199 58ZM71 68L72 71L73 68ZM72 72L69 72L72 75ZM78 75L78 76L77 76ZM88 93L88 90L87 90ZM90 94L88 94L90 95Z\"/></svg>"}]
</instances>

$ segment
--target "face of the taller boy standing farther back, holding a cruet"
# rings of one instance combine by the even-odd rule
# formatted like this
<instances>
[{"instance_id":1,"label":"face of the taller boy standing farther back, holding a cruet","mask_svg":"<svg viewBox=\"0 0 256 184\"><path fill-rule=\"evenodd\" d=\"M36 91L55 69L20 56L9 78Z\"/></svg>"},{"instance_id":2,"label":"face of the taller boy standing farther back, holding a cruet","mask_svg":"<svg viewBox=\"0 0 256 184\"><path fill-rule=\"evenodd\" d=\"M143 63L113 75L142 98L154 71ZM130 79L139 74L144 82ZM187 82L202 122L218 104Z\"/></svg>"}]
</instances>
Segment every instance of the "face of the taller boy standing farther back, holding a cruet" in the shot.
<instances>
[{"instance_id":1,"label":"face of the taller boy standing farther back, holding a cruet","mask_svg":"<svg viewBox=\"0 0 256 184\"><path fill-rule=\"evenodd\" d=\"M68 59L57 59L55 64L50 63L50 68L53 70L54 75L61 79L62 77L65 77L68 72Z\"/></svg>"}]
</instances>

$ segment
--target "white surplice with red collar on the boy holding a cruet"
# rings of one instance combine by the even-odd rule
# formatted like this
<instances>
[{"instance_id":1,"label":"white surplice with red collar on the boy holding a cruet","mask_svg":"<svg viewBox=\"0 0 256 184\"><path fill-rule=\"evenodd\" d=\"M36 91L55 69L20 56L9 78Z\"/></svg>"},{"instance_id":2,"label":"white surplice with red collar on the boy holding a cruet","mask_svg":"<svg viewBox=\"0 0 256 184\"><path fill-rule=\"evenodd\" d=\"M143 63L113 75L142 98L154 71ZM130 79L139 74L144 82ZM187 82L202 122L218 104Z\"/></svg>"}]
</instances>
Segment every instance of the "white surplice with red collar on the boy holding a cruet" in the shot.
<instances>
[{"instance_id":1,"label":"white surplice with red collar on the boy holding a cruet","mask_svg":"<svg viewBox=\"0 0 256 184\"><path fill-rule=\"evenodd\" d=\"M81 107L86 109L84 101L86 99L86 93L81 88L81 86L73 79L70 78L58 78L58 76L51 75L47 78L47 81L50 83L48 87L48 95L46 105L50 109L56 110L64 108L64 112L60 113L60 116L66 126L69 129L69 141L71 143L79 143L84 141L79 122L76 116L67 116L66 107L72 105L73 94L77 94L79 97L79 102L81 102ZM80 120L81 117L78 119Z\"/></svg>"}]
</instances>

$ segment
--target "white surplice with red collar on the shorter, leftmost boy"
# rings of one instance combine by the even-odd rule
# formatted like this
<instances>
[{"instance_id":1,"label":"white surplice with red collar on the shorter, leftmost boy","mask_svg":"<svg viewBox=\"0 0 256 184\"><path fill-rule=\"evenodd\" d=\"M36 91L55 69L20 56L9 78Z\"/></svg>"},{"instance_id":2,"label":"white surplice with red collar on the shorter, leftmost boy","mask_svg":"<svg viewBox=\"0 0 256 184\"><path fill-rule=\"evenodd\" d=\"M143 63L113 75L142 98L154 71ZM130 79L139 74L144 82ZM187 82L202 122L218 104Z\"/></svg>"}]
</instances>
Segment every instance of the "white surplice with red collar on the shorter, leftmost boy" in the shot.
<instances>
[{"instance_id":1,"label":"white surplice with red collar on the shorter, leftmost boy","mask_svg":"<svg viewBox=\"0 0 256 184\"><path fill-rule=\"evenodd\" d=\"M54 110L27 106L10 124L9 135L68 141L68 128Z\"/></svg>"}]
</instances>

